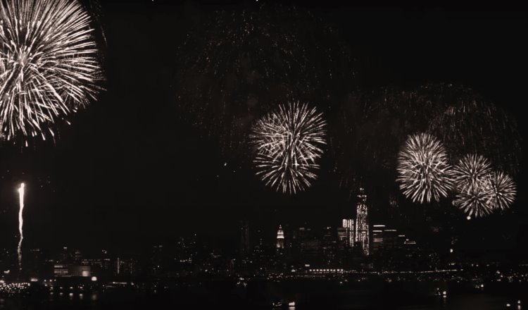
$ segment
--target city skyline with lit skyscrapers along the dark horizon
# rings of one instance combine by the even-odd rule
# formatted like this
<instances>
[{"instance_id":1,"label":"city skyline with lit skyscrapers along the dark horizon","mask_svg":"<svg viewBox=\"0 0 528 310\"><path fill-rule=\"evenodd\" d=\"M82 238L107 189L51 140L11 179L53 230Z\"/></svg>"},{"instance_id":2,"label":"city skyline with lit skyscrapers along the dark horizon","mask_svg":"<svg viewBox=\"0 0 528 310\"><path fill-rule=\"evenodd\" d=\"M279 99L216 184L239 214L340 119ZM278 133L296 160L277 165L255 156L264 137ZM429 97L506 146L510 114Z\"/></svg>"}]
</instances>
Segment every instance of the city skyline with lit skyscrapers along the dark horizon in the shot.
<instances>
[{"instance_id":1,"label":"city skyline with lit skyscrapers along the dark horizon","mask_svg":"<svg viewBox=\"0 0 528 310\"><path fill-rule=\"evenodd\" d=\"M318 247L322 247L321 249L324 249L325 247L322 246L322 243L320 242L325 242L324 240L327 234L329 234L328 237L333 240L332 242L334 243L334 245L332 245L332 247L335 247L334 250L337 251L339 248L341 250L345 249L346 251L353 251L353 256L355 256L356 259L379 255L379 247L383 248L384 235L389 238L388 240L392 240L392 238L396 237L400 244L417 244L415 240L418 239L420 240L418 244L420 244L422 249L433 251L439 255L445 255L448 251L449 253L453 253L454 251L457 254L459 252L472 253L472 255L477 255L474 258L474 262L478 262L479 257L485 257L487 255L486 252L488 251L486 250L467 248L464 245L459 245L455 242L451 242L449 245L444 242L441 246L439 246L440 244L429 243L427 238L434 237L435 234L420 236L413 233L413 230L406 230L406 228L402 226L396 226L394 224L386 225L386 223L380 221L370 223L371 220L367 216L369 209L367 195L362 188L360 188L358 192L358 202L356 207L352 208L356 211L356 215L353 216L353 218L334 218L334 221L325 223L325 225L318 225L308 221L304 221L301 225L291 225L291 223L282 222L285 224L284 228L282 224L279 224L278 229L276 229L273 228L272 223L262 224L261 222L255 223L244 220L239 221L236 226L236 228L239 229L238 240L235 237L234 239L223 240L223 242L218 243L216 242L217 240L207 233L201 232L200 230L189 230L185 234L165 236L165 238L161 240L151 240L146 244L137 244L135 247L130 247L125 250L113 249L110 252L108 252L108 247L102 247L98 242L92 242L89 247L86 247L86 244L83 245L80 242L73 242L54 247L26 246L23 250L20 248L19 243L16 250L16 252L18 252L18 259L15 259L15 251L4 247L3 251L6 256L3 263L5 267L11 266L9 269L17 266L20 268L19 272L23 272L20 265L22 258L21 255L23 253L33 256L33 252L36 250L39 253L44 252L48 255L51 254L51 256L55 256L61 252L61 249L65 250L68 248L77 252L80 250L79 253L87 254L87 257L89 258L98 256L102 251L105 255L106 253L111 253L111 257L113 258L125 257L127 259L137 259L138 257L144 256L152 247L168 246L176 247L176 249L180 247L179 249L182 250L185 247L180 244L180 242L189 239L194 240L194 242L199 240L199 244L201 244L200 251L212 251L211 253L217 252L221 256L232 257L233 259L244 259L244 257L253 255L254 251L257 249L267 249L266 251L268 251L268 254L284 254L284 252L288 252L292 247L292 242L295 242L294 240L299 238L298 231L301 230L310 232L309 235L315 238L313 240L317 240L319 244ZM265 227L265 225L268 225L269 227ZM440 235L438 234L438 231L436 231L436 235ZM457 236L451 235L451 240L453 240L453 237ZM518 235L517 237L522 238L521 235ZM226 246L226 244L228 245ZM196 249L198 249L198 247L196 247ZM518 247L512 249L503 248L494 249L491 252L500 252L508 255L510 258L506 261L509 261L512 259L511 255L513 253L520 254L522 253L522 249ZM513 259L513 261L522 262L526 261L526 259L524 256L518 256ZM60 262L60 260L58 262Z\"/></svg>"}]
</instances>

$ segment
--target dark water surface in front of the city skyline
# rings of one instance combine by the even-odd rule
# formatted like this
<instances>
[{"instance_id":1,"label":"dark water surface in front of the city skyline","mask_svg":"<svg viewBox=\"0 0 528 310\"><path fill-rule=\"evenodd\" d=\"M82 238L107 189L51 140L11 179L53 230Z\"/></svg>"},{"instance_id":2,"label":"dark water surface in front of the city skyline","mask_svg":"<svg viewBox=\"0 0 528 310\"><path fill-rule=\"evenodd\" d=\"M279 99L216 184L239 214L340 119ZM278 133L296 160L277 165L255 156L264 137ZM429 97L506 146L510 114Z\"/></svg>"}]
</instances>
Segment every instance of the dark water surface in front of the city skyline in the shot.
<instances>
[{"instance_id":1,"label":"dark water surface in front of the city skyline","mask_svg":"<svg viewBox=\"0 0 528 310\"><path fill-rule=\"evenodd\" d=\"M256 281L246 287L200 283L177 289L119 288L0 297L0 310L14 309L528 309L525 283L474 286L447 283L338 283ZM446 291L444 297L443 292ZM440 296L436 295L440 292ZM273 307L272 304L282 303ZM295 302L295 306L288 306Z\"/></svg>"}]
</instances>

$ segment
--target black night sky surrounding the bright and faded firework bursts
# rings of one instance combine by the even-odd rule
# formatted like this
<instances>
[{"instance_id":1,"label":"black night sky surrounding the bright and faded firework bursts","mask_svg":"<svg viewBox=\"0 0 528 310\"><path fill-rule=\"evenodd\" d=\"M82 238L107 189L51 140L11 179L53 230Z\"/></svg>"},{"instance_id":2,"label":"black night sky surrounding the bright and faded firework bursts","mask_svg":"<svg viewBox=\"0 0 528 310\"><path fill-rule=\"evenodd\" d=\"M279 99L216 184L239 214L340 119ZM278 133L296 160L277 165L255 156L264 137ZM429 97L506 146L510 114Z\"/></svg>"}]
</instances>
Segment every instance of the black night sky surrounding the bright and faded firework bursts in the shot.
<instances>
[{"instance_id":1,"label":"black night sky surrounding the bright and faded firework bursts","mask_svg":"<svg viewBox=\"0 0 528 310\"><path fill-rule=\"evenodd\" d=\"M0 232L7 238L0 246L11 247L18 237L15 187L21 180L27 182L27 247L124 249L192 231L229 240L239 218L269 230L303 221L336 225L353 209L325 164L307 192L277 194L253 171L222 156L213 138L178 120L170 101L175 51L191 20L222 6L168 2L102 4L106 91L77 113L72 125L61 126L55 144L2 145ZM337 25L344 41L358 50L361 87L463 84L513 113L524 137L526 12L344 7L341 2L298 6ZM241 5L251 4L232 2L225 8ZM527 149L526 140L522 146ZM471 223L477 232L491 225L495 235L513 240L513 247L520 229L528 237L524 160L516 181L513 213Z\"/></svg>"}]
</instances>

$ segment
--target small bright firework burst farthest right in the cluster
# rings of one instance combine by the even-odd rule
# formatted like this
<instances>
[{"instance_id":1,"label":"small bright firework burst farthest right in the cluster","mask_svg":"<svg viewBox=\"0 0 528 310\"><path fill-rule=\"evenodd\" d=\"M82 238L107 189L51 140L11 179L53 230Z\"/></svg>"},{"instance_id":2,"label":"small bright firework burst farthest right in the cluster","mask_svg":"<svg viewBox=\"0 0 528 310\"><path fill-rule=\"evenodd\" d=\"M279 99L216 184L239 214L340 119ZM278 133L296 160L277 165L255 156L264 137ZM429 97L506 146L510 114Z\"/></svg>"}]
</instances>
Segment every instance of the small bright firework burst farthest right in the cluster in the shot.
<instances>
[{"instance_id":1,"label":"small bright firework burst farthest right in the cluster","mask_svg":"<svg viewBox=\"0 0 528 310\"><path fill-rule=\"evenodd\" d=\"M515 182L509 175L502 172L494 172L489 175L489 190L491 192L491 207L493 209L505 210L515 200Z\"/></svg>"}]
</instances>

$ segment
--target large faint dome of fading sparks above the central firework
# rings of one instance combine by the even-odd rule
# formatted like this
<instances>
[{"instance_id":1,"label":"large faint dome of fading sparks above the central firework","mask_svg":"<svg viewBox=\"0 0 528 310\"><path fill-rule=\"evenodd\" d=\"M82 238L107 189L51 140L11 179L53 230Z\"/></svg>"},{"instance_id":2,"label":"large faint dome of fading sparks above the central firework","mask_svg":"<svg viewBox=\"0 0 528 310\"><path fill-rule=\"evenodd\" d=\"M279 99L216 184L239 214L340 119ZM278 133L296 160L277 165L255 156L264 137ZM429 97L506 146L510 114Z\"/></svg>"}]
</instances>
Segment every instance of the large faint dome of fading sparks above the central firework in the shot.
<instances>
[{"instance_id":1,"label":"large faint dome of fading sparks above the central firework","mask_svg":"<svg viewBox=\"0 0 528 310\"><path fill-rule=\"evenodd\" d=\"M178 49L178 115L217 138L225 155L251 161L251 125L277 103L316 101L326 113L356 84L353 49L304 8L222 10L191 29Z\"/></svg>"}]
</instances>

